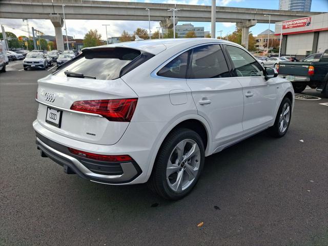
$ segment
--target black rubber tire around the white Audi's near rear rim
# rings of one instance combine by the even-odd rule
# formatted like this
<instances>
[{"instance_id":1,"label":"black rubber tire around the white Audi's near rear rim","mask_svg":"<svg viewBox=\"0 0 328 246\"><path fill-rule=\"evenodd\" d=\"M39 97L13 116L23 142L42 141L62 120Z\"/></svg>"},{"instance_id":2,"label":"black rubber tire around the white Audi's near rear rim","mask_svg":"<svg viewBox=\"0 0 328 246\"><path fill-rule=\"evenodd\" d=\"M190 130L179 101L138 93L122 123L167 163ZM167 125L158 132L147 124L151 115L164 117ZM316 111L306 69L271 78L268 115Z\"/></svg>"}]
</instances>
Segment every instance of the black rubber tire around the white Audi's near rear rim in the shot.
<instances>
[{"instance_id":1,"label":"black rubber tire around the white Audi's near rear rim","mask_svg":"<svg viewBox=\"0 0 328 246\"><path fill-rule=\"evenodd\" d=\"M167 181L167 163L169 161L169 158L171 156L171 153L173 152L176 145L185 139L192 139L194 140L200 150L200 163L198 168L198 173L192 183L187 187L185 190L182 190L180 192L173 191ZM157 157L154 163L152 174L148 180L148 187L161 197L165 199L170 200L178 200L182 197L185 197L195 186L202 168L204 166L204 159L205 159L205 151L204 151L204 145L202 142L201 137L198 135L198 133L187 129L187 128L179 128L171 132L166 139L163 141L158 153Z\"/></svg>"}]
</instances>

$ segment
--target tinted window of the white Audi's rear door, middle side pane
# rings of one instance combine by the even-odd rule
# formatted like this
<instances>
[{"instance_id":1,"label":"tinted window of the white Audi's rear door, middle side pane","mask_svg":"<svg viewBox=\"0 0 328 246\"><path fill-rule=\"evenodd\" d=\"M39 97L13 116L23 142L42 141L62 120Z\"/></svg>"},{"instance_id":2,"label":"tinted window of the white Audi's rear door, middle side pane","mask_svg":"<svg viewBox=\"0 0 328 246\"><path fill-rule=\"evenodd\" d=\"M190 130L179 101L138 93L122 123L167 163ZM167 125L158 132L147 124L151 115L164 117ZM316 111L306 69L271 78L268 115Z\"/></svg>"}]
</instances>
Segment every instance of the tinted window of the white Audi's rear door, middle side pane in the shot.
<instances>
[{"instance_id":1,"label":"tinted window of the white Audi's rear door, middle side pane","mask_svg":"<svg viewBox=\"0 0 328 246\"><path fill-rule=\"evenodd\" d=\"M219 45L204 45L193 49L189 78L230 77L226 59Z\"/></svg>"}]
</instances>

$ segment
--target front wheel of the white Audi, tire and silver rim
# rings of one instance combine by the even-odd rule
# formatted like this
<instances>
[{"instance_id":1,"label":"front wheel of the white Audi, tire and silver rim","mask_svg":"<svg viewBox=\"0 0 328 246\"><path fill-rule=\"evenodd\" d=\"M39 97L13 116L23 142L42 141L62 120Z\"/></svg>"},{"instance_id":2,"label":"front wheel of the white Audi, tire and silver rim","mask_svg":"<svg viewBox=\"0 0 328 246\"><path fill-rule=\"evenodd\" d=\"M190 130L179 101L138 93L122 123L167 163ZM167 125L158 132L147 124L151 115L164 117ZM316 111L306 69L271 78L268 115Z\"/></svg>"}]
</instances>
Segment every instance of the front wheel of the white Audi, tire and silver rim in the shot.
<instances>
[{"instance_id":1,"label":"front wheel of the white Audi, tire and silver rim","mask_svg":"<svg viewBox=\"0 0 328 246\"><path fill-rule=\"evenodd\" d=\"M283 137L288 131L292 117L292 103L287 97L283 98L277 116L275 124L268 129L268 132L273 137Z\"/></svg>"}]
</instances>

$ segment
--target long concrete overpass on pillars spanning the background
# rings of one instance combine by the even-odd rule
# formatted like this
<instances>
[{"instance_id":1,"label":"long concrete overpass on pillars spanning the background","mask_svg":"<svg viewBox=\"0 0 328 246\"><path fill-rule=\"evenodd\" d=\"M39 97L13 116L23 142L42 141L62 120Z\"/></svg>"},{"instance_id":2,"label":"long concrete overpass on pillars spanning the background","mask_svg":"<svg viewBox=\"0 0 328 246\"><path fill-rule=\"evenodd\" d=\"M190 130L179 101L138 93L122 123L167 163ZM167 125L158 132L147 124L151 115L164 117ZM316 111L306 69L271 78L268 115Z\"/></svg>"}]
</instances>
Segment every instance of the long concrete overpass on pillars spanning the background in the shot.
<instances>
[{"instance_id":1,"label":"long concrete overpass on pillars spanning the background","mask_svg":"<svg viewBox=\"0 0 328 246\"><path fill-rule=\"evenodd\" d=\"M65 4L65 17L67 19L148 20L145 9L150 8L150 18L152 21L160 21L162 27L173 27L171 19L172 12L167 11L170 8L174 8L173 4L84 0L53 0L52 4L51 0L2 0L0 2L0 17L51 19L55 27L57 46L59 45L58 49L64 49L63 35L61 33L61 27L63 27L63 9L61 5L63 4ZM176 7L180 9L177 13L179 21L211 22L211 6L178 4ZM256 23L269 22L268 17L263 16L264 14L270 14L271 22L274 23L319 13L216 7L216 22L239 23L238 27L243 29L242 40L248 41L250 27ZM243 45L248 47L246 43Z\"/></svg>"}]
</instances>

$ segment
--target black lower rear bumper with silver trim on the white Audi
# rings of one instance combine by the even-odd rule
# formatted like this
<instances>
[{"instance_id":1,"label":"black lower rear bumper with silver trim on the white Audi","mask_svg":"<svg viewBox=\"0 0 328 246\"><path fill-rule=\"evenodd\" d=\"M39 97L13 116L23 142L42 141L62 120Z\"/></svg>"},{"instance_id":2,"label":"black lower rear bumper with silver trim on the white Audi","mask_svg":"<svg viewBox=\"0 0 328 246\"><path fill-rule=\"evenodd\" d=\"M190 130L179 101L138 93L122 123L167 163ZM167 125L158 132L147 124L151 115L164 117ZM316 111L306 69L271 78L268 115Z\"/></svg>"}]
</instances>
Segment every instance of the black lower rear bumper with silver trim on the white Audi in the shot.
<instances>
[{"instance_id":1,"label":"black lower rear bumper with silver trim on the white Audi","mask_svg":"<svg viewBox=\"0 0 328 246\"><path fill-rule=\"evenodd\" d=\"M141 174L135 161L107 162L76 156L60 145L36 133L36 145L41 156L49 157L65 170L68 168L82 178L107 184L122 184L134 180Z\"/></svg>"}]
</instances>

